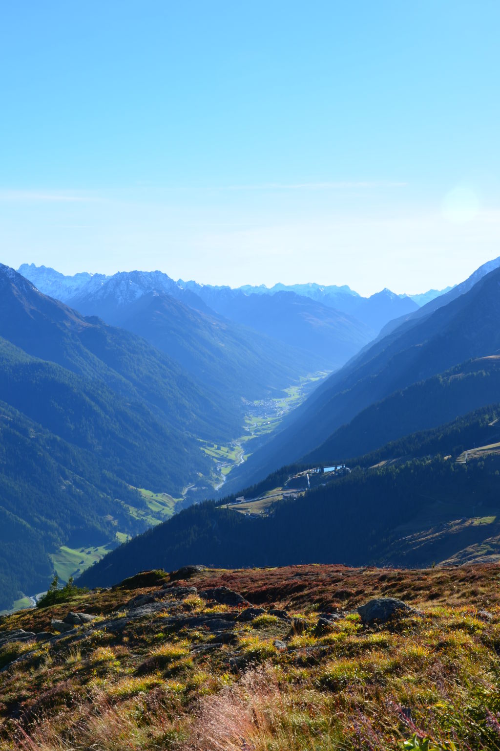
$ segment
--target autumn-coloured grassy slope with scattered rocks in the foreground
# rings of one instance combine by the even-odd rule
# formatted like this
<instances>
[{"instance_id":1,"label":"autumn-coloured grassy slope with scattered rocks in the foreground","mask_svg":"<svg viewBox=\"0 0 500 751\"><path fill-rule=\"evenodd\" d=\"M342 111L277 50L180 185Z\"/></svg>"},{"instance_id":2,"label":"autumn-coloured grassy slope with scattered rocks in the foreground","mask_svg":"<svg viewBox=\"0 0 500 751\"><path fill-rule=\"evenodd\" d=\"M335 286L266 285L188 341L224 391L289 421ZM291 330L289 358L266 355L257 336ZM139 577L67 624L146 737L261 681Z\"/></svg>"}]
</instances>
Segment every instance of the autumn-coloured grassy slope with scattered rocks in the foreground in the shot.
<instances>
[{"instance_id":1,"label":"autumn-coloured grassy slope with scattered rocks in the foreground","mask_svg":"<svg viewBox=\"0 0 500 751\"><path fill-rule=\"evenodd\" d=\"M493 565L150 572L4 617L0 640L32 635L0 647L1 747L500 749L498 577ZM364 623L355 608L376 596L413 610ZM68 611L94 620L40 635Z\"/></svg>"}]
</instances>

